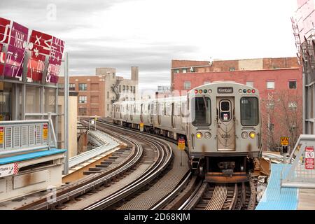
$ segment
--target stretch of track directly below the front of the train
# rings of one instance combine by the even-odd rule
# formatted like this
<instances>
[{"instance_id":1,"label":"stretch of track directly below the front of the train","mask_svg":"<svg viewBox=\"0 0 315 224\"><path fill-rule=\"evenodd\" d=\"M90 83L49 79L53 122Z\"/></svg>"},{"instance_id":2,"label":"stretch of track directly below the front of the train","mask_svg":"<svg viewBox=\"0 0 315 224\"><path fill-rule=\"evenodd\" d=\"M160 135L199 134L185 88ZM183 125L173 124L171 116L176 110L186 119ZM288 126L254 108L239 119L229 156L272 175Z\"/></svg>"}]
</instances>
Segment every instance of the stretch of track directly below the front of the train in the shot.
<instances>
[{"instance_id":1,"label":"stretch of track directly below the front of the train","mask_svg":"<svg viewBox=\"0 0 315 224\"><path fill-rule=\"evenodd\" d=\"M253 210L255 187L246 183L202 183L180 210Z\"/></svg>"}]
</instances>

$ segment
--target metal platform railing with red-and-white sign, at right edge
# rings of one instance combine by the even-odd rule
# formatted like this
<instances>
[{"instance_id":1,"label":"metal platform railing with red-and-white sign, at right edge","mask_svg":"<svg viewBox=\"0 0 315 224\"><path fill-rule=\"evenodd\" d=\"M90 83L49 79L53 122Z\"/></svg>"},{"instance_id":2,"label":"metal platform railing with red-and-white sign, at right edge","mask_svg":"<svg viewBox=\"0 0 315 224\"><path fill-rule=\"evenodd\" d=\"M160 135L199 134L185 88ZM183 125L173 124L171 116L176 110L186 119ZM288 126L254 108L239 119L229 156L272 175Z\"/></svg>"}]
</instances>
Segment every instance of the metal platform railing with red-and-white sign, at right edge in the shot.
<instances>
[{"instance_id":1,"label":"metal platform railing with red-and-white sign, at right edge","mask_svg":"<svg viewBox=\"0 0 315 224\"><path fill-rule=\"evenodd\" d=\"M281 172L281 188L315 188L315 135L302 134Z\"/></svg>"}]
</instances>

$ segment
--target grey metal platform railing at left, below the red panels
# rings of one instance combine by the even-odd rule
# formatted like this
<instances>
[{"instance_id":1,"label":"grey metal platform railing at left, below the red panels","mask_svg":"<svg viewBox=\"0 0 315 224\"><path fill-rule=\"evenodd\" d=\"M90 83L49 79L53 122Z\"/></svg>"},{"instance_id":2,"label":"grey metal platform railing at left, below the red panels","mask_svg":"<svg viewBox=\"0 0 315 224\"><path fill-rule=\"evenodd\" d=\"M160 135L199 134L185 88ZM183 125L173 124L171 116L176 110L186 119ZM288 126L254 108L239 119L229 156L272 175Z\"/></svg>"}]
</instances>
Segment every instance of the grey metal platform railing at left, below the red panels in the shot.
<instances>
[{"instance_id":1,"label":"grey metal platform railing at left, below the red panels","mask_svg":"<svg viewBox=\"0 0 315 224\"><path fill-rule=\"evenodd\" d=\"M48 120L0 122L0 156L49 149L57 146L51 116Z\"/></svg>"}]
</instances>

